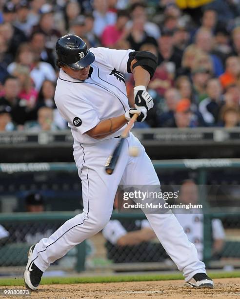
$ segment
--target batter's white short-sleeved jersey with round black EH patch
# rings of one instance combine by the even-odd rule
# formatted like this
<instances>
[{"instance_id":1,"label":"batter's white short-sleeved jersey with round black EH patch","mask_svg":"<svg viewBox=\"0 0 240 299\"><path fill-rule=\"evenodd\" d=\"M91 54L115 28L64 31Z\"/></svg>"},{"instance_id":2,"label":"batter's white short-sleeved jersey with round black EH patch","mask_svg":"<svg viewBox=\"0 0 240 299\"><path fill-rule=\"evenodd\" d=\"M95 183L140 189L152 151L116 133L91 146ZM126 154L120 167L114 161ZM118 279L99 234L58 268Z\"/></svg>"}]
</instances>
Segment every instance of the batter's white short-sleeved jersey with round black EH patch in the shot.
<instances>
[{"instance_id":1,"label":"batter's white short-sleeved jersey with round black EH patch","mask_svg":"<svg viewBox=\"0 0 240 299\"><path fill-rule=\"evenodd\" d=\"M133 50L98 47L90 51L96 58L91 64L88 79L73 79L61 69L55 91L55 103L60 114L68 121L74 139L80 143L99 142L84 133L100 121L120 116L130 108L123 74L127 73L129 53ZM124 128L101 141L120 136Z\"/></svg>"}]
</instances>

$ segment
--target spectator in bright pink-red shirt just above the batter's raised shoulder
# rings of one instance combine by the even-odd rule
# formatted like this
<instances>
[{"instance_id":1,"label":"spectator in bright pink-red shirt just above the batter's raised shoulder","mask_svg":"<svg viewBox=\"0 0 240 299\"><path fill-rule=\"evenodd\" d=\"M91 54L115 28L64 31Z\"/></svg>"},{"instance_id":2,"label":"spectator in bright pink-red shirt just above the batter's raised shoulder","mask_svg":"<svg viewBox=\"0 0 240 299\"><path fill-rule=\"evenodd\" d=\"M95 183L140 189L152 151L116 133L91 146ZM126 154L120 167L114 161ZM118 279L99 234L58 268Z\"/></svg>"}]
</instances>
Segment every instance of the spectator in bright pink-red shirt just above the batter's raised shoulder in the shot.
<instances>
[{"instance_id":1,"label":"spectator in bright pink-red shirt just above the batter's raised shoulder","mask_svg":"<svg viewBox=\"0 0 240 299\"><path fill-rule=\"evenodd\" d=\"M127 11L119 10L117 21L114 25L108 25L102 32L101 43L105 47L115 48L115 44L122 38L129 16Z\"/></svg>"}]
</instances>

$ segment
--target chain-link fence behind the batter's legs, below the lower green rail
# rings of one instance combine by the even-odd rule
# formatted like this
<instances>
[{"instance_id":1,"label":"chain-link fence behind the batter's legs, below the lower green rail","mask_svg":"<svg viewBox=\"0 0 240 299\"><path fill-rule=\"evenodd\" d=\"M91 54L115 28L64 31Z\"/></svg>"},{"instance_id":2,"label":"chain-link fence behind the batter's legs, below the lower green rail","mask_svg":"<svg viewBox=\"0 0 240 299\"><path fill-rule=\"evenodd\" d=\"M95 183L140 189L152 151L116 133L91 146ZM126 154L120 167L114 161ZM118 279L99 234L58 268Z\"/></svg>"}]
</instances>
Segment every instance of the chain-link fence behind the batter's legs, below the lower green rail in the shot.
<instances>
[{"instance_id":1,"label":"chain-link fence behind the batter's legs, below the lower green rail","mask_svg":"<svg viewBox=\"0 0 240 299\"><path fill-rule=\"evenodd\" d=\"M11 216L0 216L0 271L2 269L5 271L6 267L12 269L12 267L25 266L29 247L42 237L51 235L71 216L74 214L16 213ZM118 230L124 228L124 234L121 233L120 238L129 233L140 235L141 230L145 230L143 234L150 234L151 229L146 223L147 220L143 218L142 214L116 213L113 214L109 226L112 227L111 232L114 230L117 232L116 235L119 234ZM223 245L217 252L215 247L218 244L215 244L211 233L213 219L221 219L225 232ZM198 236L191 241L195 243L200 252L201 249L203 250L202 258L204 257L207 266L230 267L231 269L240 267L240 214L206 214L203 223L202 239ZM113 239L109 231L104 229L56 261L53 264L54 269L80 272L83 270L134 271L176 268L154 234L149 237L149 241L137 242L134 245L119 243L118 239Z\"/></svg>"}]
</instances>

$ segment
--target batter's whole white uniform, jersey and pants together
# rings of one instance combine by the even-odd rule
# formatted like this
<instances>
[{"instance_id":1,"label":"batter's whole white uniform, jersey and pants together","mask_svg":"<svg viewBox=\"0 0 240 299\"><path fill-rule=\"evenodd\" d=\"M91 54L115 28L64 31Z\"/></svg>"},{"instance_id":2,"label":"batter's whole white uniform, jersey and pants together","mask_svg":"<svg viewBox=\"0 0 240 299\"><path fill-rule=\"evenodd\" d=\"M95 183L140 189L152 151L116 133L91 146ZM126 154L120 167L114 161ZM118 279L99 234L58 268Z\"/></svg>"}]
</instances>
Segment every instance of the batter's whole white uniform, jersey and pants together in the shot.
<instances>
[{"instance_id":1,"label":"batter's whole white uniform, jersey and pants together","mask_svg":"<svg viewBox=\"0 0 240 299\"><path fill-rule=\"evenodd\" d=\"M124 127L99 140L86 132L101 120L120 116L129 109L123 74L128 71L132 50L91 48L90 51L96 59L90 66L89 78L79 81L61 70L55 92L56 105L75 139L73 155L81 179L83 212L36 244L32 260L41 271L106 226L120 182L160 185L150 158L132 133L123 143L114 173L108 175L104 170L108 156L119 142L112 137L119 136ZM139 148L138 157L129 156L129 147ZM196 248L172 213L146 214L146 217L166 252L183 271L186 281L196 273L205 273L205 265L198 259Z\"/></svg>"}]
</instances>

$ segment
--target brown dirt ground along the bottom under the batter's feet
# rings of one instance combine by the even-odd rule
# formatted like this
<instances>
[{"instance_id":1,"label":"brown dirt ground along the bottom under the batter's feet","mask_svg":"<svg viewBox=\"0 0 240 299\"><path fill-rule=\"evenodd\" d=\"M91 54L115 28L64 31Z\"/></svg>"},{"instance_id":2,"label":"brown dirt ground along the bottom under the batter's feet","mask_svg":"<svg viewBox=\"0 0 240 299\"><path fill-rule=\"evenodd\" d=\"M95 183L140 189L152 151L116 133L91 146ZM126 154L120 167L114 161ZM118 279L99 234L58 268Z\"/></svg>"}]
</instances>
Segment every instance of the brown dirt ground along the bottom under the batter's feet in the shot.
<instances>
[{"instance_id":1,"label":"brown dirt ground along the bottom under the batter's feet","mask_svg":"<svg viewBox=\"0 0 240 299\"><path fill-rule=\"evenodd\" d=\"M195 289L184 284L183 280L112 282L86 284L52 284L42 285L39 290L32 291L29 299L97 299L97 298L218 298L240 299L240 278L214 279L214 289ZM4 289L5 287L0 287ZM20 287L11 287L11 289ZM7 298L0 296L0 298Z\"/></svg>"}]
</instances>

